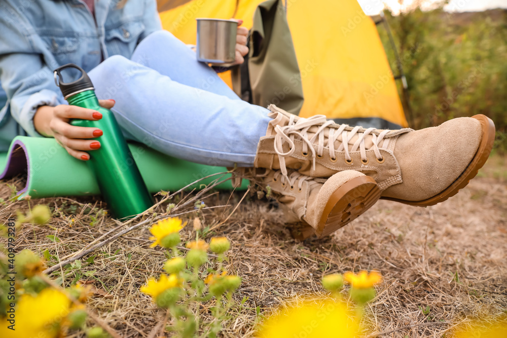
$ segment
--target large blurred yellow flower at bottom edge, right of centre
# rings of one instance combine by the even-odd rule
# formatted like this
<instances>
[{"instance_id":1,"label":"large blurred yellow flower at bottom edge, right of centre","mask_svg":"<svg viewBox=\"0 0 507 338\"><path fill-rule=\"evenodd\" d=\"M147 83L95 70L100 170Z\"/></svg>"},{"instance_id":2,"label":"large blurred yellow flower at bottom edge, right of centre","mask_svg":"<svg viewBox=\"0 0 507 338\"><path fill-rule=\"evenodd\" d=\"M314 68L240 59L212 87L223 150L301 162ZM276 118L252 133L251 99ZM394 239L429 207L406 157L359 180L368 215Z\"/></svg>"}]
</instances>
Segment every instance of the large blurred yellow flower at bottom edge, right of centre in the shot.
<instances>
[{"instance_id":1,"label":"large blurred yellow flower at bottom edge, right of centre","mask_svg":"<svg viewBox=\"0 0 507 338\"><path fill-rule=\"evenodd\" d=\"M261 327L262 338L359 337L359 319L343 302L304 302L269 317Z\"/></svg>"}]
</instances>

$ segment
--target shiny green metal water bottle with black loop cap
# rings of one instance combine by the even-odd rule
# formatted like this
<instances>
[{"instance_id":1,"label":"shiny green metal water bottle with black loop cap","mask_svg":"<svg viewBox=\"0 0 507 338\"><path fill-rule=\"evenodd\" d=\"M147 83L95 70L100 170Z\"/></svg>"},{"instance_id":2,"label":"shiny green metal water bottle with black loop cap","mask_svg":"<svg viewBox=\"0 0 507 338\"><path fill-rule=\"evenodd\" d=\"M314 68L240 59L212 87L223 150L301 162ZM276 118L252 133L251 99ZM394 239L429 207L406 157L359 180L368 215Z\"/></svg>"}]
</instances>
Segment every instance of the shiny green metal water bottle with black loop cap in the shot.
<instances>
[{"instance_id":1,"label":"shiny green metal water bottle with black loop cap","mask_svg":"<svg viewBox=\"0 0 507 338\"><path fill-rule=\"evenodd\" d=\"M81 77L64 83L60 71L76 68ZM132 153L120 126L111 110L98 104L93 84L88 74L79 66L69 63L54 71L55 82L70 105L94 109L102 114L98 121L73 119L70 124L79 127L94 127L102 130L102 136L93 138L100 148L90 151L87 164L93 171L107 206L117 218L132 218L153 205L152 197L135 164Z\"/></svg>"}]
</instances>

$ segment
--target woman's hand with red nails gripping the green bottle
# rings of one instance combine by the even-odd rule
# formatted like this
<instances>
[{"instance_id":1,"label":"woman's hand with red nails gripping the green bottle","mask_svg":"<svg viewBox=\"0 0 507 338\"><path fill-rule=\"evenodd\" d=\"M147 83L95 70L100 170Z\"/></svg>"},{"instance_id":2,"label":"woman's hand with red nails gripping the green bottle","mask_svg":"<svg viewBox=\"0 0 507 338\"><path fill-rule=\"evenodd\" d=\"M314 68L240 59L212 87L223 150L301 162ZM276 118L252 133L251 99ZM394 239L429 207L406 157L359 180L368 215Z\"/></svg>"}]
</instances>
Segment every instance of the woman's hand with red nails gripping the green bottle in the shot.
<instances>
[{"instance_id":1,"label":"woman's hand with red nails gripping the green bottle","mask_svg":"<svg viewBox=\"0 0 507 338\"><path fill-rule=\"evenodd\" d=\"M100 106L111 109L115 100L99 100ZM78 107L75 105L61 104L56 107L41 106L33 116L35 130L47 137L54 137L65 150L78 160L88 161L90 155L85 151L100 148L100 142L87 140L87 138L99 137L102 130L91 127L76 127L68 122L70 119L82 119L97 121L102 119L100 112Z\"/></svg>"}]
</instances>

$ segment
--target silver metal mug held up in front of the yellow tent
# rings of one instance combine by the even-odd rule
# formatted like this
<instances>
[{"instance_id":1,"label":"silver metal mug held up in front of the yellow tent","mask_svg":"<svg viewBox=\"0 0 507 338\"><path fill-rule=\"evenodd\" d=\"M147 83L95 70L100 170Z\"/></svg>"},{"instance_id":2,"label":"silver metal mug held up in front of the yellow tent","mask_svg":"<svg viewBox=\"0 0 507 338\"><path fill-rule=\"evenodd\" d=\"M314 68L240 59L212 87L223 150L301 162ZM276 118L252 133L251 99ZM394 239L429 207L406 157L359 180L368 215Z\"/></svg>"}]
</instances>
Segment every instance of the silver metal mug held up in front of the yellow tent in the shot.
<instances>
[{"instance_id":1,"label":"silver metal mug held up in front of the yellow tent","mask_svg":"<svg viewBox=\"0 0 507 338\"><path fill-rule=\"evenodd\" d=\"M234 62L236 58L236 20L198 18L197 60L213 65Z\"/></svg>"}]
</instances>

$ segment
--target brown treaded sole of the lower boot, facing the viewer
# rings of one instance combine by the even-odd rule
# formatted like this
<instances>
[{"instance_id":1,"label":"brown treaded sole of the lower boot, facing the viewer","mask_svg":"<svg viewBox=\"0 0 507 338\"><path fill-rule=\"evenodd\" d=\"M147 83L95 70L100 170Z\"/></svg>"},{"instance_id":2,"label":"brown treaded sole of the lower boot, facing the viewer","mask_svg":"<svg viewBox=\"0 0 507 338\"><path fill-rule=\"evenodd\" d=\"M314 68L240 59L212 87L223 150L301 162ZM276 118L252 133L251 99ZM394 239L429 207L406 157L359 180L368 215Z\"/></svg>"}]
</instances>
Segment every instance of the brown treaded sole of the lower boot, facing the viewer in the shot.
<instances>
[{"instance_id":1,"label":"brown treaded sole of the lower boot, facing the viewer","mask_svg":"<svg viewBox=\"0 0 507 338\"><path fill-rule=\"evenodd\" d=\"M371 208L380 198L380 189L370 176L355 177L342 184L330 197L315 230L327 236Z\"/></svg>"}]
</instances>

